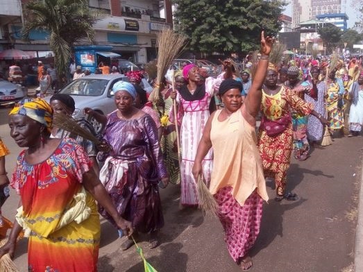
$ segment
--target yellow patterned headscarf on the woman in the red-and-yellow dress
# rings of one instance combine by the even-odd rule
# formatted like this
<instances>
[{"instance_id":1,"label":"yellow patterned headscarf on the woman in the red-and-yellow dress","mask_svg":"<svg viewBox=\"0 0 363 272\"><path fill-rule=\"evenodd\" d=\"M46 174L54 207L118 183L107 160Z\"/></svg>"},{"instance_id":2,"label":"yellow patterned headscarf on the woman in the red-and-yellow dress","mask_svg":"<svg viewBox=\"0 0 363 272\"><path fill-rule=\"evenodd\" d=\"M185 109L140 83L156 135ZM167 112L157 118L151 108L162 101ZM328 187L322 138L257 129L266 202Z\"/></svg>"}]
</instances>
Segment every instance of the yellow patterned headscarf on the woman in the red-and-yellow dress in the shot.
<instances>
[{"instance_id":1,"label":"yellow patterned headscarf on the woman in the red-and-yellow dress","mask_svg":"<svg viewBox=\"0 0 363 272\"><path fill-rule=\"evenodd\" d=\"M27 116L44 125L49 132L51 131L53 110L44 99L23 99L9 112L9 115L11 114Z\"/></svg>"}]
</instances>

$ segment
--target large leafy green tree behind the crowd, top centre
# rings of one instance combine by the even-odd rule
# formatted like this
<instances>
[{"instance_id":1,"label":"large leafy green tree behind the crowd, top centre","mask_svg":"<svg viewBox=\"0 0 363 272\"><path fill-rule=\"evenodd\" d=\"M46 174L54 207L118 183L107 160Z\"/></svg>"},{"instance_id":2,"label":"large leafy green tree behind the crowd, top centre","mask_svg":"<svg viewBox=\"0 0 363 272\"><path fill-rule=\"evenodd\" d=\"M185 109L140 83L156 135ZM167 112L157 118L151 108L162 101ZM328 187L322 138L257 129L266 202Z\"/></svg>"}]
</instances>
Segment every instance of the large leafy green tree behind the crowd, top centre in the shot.
<instances>
[{"instance_id":1,"label":"large leafy green tree behind the crowd, top centre","mask_svg":"<svg viewBox=\"0 0 363 272\"><path fill-rule=\"evenodd\" d=\"M201 52L248 52L260 46L260 32L277 35L282 0L174 0L176 30Z\"/></svg>"}]
</instances>

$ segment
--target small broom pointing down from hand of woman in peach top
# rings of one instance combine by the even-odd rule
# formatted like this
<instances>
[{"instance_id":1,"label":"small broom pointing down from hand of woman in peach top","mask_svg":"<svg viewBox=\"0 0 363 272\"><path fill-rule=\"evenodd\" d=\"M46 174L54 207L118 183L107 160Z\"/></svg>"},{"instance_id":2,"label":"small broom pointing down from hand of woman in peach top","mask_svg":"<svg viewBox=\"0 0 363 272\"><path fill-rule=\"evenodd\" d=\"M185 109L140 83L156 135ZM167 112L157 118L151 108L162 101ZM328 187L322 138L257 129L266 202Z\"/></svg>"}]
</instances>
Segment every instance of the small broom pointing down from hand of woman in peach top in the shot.
<instances>
[{"instance_id":1,"label":"small broom pointing down from hand of woman in peach top","mask_svg":"<svg viewBox=\"0 0 363 272\"><path fill-rule=\"evenodd\" d=\"M210 194L209 189L207 185L205 185L201 176L198 177L196 187L198 190L199 209L203 211L203 214L217 217L219 211L218 203L212 194Z\"/></svg>"}]
</instances>

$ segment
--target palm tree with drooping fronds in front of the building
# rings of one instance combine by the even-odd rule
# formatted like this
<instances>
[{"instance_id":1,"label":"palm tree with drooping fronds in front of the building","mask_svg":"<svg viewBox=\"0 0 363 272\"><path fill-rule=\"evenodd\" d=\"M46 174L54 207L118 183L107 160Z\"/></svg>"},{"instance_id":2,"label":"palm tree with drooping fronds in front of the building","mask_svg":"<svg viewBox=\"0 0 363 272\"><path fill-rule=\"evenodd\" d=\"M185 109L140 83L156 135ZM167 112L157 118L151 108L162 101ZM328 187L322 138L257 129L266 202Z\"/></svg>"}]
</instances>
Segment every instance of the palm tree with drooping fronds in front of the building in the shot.
<instances>
[{"instance_id":1,"label":"palm tree with drooping fronds in front of the building","mask_svg":"<svg viewBox=\"0 0 363 272\"><path fill-rule=\"evenodd\" d=\"M87 0L33 0L25 5L26 23L22 34L28 40L31 31L49 33L49 46L54 53L58 75L67 75L72 46L94 38L92 24L99 14L88 8Z\"/></svg>"}]
</instances>

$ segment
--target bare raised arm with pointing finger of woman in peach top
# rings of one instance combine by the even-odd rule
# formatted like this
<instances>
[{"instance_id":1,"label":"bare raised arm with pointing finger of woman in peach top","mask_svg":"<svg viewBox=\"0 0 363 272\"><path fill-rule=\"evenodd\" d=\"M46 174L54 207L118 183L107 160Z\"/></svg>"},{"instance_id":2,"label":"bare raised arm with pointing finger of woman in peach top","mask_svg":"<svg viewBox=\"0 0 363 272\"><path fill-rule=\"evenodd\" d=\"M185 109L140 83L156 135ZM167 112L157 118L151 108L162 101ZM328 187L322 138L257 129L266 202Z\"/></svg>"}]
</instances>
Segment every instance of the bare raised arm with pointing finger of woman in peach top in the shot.
<instances>
[{"instance_id":1,"label":"bare raised arm with pointing finger of woman in peach top","mask_svg":"<svg viewBox=\"0 0 363 272\"><path fill-rule=\"evenodd\" d=\"M261 33L261 58L258 62L257 71L251 88L246 97L245 103L242 105L242 114L250 124L254 124L255 117L260 110L260 104L262 99L262 84L266 76L267 67L269 66L269 55L272 49L273 38L264 37L264 31Z\"/></svg>"}]
</instances>

